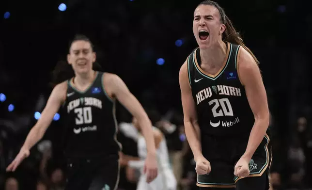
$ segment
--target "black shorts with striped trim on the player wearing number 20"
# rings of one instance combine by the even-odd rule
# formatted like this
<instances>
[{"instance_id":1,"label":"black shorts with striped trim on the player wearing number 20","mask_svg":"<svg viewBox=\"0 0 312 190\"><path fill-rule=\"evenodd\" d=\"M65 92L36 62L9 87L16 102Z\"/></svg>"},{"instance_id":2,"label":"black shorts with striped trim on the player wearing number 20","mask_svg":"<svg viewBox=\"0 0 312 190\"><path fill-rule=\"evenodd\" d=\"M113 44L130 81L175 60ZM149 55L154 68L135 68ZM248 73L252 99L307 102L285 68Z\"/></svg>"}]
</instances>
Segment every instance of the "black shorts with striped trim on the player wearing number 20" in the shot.
<instances>
[{"instance_id":1,"label":"black shorts with striped trim on the player wearing number 20","mask_svg":"<svg viewBox=\"0 0 312 190\"><path fill-rule=\"evenodd\" d=\"M211 172L197 176L197 186L201 189L230 190L236 187L236 190L258 190L255 187L262 187L264 184L264 188L259 190L269 189L268 171L272 160L272 145L268 135L265 135L250 159L250 175L246 179L234 176L234 166L245 153L248 139L212 136L203 136L202 139L203 156L210 162ZM250 182L250 185L246 185L245 181ZM248 187L238 188L238 186Z\"/></svg>"}]
</instances>

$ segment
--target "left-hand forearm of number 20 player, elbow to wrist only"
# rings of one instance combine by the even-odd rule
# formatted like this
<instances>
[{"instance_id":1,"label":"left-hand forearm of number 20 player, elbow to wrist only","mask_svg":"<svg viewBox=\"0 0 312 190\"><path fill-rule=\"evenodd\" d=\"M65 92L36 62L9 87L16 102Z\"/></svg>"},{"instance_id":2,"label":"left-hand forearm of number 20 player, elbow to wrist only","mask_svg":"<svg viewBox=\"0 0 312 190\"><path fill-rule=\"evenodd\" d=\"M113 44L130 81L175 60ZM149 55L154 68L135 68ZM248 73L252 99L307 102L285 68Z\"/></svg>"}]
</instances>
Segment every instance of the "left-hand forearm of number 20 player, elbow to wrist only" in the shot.
<instances>
[{"instance_id":1,"label":"left-hand forearm of number 20 player, elbow to wrist only","mask_svg":"<svg viewBox=\"0 0 312 190\"><path fill-rule=\"evenodd\" d=\"M202 145L200 141L199 126L192 124L191 122L184 122L185 134L187 136L187 142L191 148L195 160L202 156Z\"/></svg>"}]
</instances>

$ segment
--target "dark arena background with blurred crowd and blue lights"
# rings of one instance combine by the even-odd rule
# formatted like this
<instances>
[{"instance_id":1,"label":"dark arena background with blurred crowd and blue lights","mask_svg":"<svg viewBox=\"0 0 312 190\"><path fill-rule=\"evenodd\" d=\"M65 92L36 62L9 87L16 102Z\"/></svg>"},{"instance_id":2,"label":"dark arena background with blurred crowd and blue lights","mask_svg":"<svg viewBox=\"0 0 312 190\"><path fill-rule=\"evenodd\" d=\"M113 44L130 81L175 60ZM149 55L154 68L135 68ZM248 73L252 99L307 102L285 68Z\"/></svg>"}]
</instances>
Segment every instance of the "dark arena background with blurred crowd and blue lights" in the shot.
<instances>
[{"instance_id":1,"label":"dark arena background with blurred crowd and blue lights","mask_svg":"<svg viewBox=\"0 0 312 190\"><path fill-rule=\"evenodd\" d=\"M165 133L179 190L198 190L184 134L178 73L197 47L200 0L48 0L0 2L0 188L62 190L62 114L16 172L16 157L51 93L51 72L76 34L94 43L103 71L121 77L154 126ZM260 61L273 131L271 189L312 189L312 11L304 0L219 0ZM119 124L131 115L117 106ZM174 130L166 127L175 126ZM137 144L121 132L123 152ZM108 171L109 172L109 171ZM138 172L121 169L118 190L135 190ZM39 180L40 179L40 180ZM44 179L44 180L42 180ZM46 186L47 185L47 186Z\"/></svg>"}]
</instances>

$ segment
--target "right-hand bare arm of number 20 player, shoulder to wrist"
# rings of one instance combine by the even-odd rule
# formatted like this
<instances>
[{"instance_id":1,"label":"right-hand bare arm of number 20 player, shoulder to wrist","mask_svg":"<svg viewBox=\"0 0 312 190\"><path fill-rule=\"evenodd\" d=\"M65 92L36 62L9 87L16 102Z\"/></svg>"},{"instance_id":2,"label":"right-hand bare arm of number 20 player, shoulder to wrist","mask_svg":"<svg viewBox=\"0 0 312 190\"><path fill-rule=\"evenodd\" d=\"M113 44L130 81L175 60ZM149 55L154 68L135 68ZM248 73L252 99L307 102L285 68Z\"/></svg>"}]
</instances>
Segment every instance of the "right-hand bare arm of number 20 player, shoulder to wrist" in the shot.
<instances>
[{"instance_id":1,"label":"right-hand bare arm of number 20 player, shoulder to wrist","mask_svg":"<svg viewBox=\"0 0 312 190\"><path fill-rule=\"evenodd\" d=\"M269 109L260 69L252 56L242 47L237 67L239 78L245 87L250 108L255 118L246 152L243 155L244 158L250 160L269 126Z\"/></svg>"}]
</instances>

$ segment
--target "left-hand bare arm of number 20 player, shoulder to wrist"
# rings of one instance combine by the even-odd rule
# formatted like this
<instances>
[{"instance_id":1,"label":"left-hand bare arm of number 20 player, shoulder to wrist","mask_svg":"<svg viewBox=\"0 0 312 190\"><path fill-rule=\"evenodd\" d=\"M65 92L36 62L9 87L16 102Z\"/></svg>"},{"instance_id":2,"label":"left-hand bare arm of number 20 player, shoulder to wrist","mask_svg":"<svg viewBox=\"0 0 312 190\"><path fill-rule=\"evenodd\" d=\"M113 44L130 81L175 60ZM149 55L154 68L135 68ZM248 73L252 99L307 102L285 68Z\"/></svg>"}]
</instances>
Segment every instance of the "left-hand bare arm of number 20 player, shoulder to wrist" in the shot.
<instances>
[{"instance_id":1,"label":"left-hand bare arm of number 20 player, shoulder to wrist","mask_svg":"<svg viewBox=\"0 0 312 190\"><path fill-rule=\"evenodd\" d=\"M179 82L181 89L181 100L184 114L184 127L187 141L193 152L195 160L202 155L202 146L200 143L200 128L197 123L197 115L192 91L188 81L187 62L185 62L179 72Z\"/></svg>"}]
</instances>

